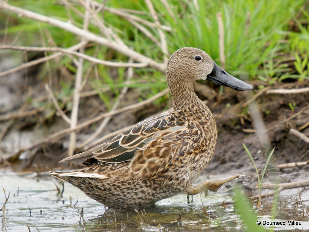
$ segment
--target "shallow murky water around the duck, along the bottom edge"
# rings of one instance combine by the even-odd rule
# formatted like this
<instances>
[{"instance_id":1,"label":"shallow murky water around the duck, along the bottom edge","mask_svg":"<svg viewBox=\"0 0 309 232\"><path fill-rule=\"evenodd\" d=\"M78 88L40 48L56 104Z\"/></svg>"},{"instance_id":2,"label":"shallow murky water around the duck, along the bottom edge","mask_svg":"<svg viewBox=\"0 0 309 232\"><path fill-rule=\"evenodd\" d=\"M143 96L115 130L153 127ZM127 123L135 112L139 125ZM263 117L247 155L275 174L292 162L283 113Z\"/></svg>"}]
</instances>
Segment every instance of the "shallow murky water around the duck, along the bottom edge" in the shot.
<instances>
[{"instance_id":1,"label":"shallow murky water around the duck, along the bottom edge","mask_svg":"<svg viewBox=\"0 0 309 232\"><path fill-rule=\"evenodd\" d=\"M182 193L177 196L161 200L154 209L146 209L144 225L140 217L133 210L116 211L108 210L110 219L104 215L104 206L87 197L83 192L65 183L63 196L60 197L57 186L62 191L62 185L56 178L49 175L36 175L36 173L17 175L11 171L0 171L0 184L10 192L6 204L5 226L2 231L244 231L241 220L236 216L232 205L213 206L231 198L224 192L212 193L207 197L204 194L194 196L194 204L187 204L187 195ZM200 178L201 180L201 178ZM61 192L60 191L60 192ZM77 202L78 200L78 202ZM0 204L4 203L4 193L0 192ZM76 203L77 202L77 203ZM203 214L203 205L207 208L209 217ZM76 204L75 204L76 203ZM74 206L75 205L75 206ZM259 220L270 222L270 204L263 205L260 212L263 216ZM83 208L85 222L80 221L80 212ZM31 211L31 215L30 215ZM179 215L181 213L181 218ZM3 219L3 212L0 212ZM214 220L223 217L219 223L210 225ZM265 216L266 215L266 216ZM142 215L140 215L143 218ZM116 224L115 224L116 217ZM276 221L296 220L302 225L279 225L274 230L279 231L305 231L309 228L308 220L304 220L299 210L290 206L281 207ZM307 218L305 218L307 219ZM121 226L122 221L122 226ZM2 226L2 222L0 222ZM287 223L286 223L287 224ZM269 228L269 225L265 225ZM37 228L37 229L36 229Z\"/></svg>"}]
</instances>

